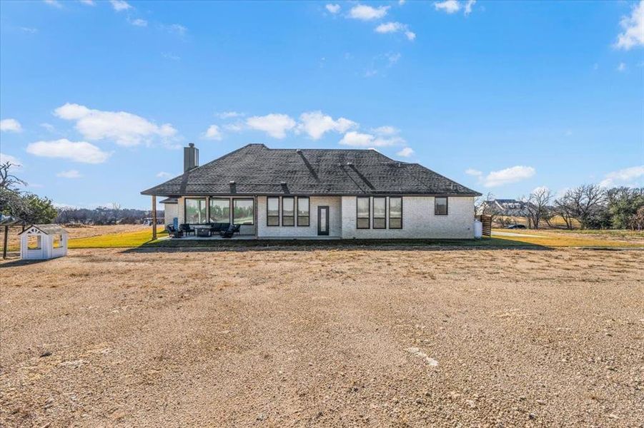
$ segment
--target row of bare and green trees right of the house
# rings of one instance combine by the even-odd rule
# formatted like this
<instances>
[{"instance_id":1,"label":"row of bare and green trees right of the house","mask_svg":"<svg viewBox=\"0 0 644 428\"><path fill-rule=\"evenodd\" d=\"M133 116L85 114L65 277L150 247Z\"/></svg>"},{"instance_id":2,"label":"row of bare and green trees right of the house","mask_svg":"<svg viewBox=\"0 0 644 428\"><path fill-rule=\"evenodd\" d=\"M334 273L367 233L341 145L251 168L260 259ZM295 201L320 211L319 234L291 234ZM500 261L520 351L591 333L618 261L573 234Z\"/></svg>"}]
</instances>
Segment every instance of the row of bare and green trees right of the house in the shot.
<instances>
[{"instance_id":1,"label":"row of bare and green trees right of the house","mask_svg":"<svg viewBox=\"0 0 644 428\"><path fill-rule=\"evenodd\" d=\"M498 223L514 222L493 203L492 195L480 201L480 212L492 215ZM580 185L555 197L548 188L536 188L519 198L530 228L538 229L553 220L563 220L565 228L578 224L582 229L644 230L644 188L603 188L597 184ZM487 202L487 203L486 203Z\"/></svg>"}]
</instances>

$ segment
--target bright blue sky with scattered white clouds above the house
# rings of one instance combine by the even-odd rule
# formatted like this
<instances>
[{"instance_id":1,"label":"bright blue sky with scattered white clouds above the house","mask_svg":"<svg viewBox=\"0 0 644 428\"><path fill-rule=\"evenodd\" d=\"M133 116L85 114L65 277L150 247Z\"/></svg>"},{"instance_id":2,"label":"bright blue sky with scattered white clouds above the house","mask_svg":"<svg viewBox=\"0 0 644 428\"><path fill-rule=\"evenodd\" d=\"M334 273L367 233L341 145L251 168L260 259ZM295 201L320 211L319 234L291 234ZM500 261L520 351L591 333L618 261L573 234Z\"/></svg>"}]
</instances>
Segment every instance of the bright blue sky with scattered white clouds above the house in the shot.
<instances>
[{"instance_id":1,"label":"bright blue sky with scattered white clouds above the house","mask_svg":"<svg viewBox=\"0 0 644 428\"><path fill-rule=\"evenodd\" d=\"M247 143L376 148L482 193L642 185L644 1L0 3L27 190L139 192Z\"/></svg>"}]
</instances>

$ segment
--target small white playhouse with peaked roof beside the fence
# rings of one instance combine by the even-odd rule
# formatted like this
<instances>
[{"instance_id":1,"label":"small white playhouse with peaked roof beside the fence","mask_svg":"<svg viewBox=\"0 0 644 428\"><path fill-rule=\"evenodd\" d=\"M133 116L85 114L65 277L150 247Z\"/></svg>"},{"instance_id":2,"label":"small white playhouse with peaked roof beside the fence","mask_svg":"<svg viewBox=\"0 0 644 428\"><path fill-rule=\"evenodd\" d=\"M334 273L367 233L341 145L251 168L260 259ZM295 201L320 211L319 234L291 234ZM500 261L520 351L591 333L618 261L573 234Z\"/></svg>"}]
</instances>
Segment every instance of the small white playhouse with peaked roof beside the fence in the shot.
<instances>
[{"instance_id":1,"label":"small white playhouse with peaked roof beside the fence","mask_svg":"<svg viewBox=\"0 0 644 428\"><path fill-rule=\"evenodd\" d=\"M31 225L20 233L20 258L48 260L67 254L67 231L60 225Z\"/></svg>"}]
</instances>

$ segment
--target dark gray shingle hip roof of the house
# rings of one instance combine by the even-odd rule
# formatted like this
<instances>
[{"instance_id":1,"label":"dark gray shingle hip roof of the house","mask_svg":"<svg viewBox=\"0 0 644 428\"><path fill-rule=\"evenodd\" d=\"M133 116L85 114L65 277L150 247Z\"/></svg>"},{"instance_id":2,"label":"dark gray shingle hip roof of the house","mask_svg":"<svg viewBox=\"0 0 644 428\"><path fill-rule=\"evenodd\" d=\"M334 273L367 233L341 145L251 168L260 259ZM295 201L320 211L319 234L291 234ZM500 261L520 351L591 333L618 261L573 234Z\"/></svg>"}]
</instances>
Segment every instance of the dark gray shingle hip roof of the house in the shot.
<instances>
[{"instance_id":1,"label":"dark gray shingle hip roof of the house","mask_svg":"<svg viewBox=\"0 0 644 428\"><path fill-rule=\"evenodd\" d=\"M234 183L233 183L234 182ZM374 150L249 144L143 195L480 195L417 163Z\"/></svg>"}]
</instances>

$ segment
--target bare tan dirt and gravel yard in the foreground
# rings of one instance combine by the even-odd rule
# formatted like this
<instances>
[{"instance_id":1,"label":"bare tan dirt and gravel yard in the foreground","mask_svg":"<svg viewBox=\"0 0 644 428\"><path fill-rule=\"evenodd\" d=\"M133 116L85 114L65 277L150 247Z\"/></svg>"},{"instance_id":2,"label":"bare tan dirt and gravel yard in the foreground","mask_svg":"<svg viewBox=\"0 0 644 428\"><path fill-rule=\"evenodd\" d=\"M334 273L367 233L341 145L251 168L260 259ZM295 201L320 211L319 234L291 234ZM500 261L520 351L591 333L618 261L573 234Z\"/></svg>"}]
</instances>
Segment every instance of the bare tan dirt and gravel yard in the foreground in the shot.
<instances>
[{"instance_id":1,"label":"bare tan dirt and gravel yard in the foreground","mask_svg":"<svg viewBox=\"0 0 644 428\"><path fill-rule=\"evenodd\" d=\"M239 248L4 263L0 425L640 426L643 262Z\"/></svg>"}]
</instances>

